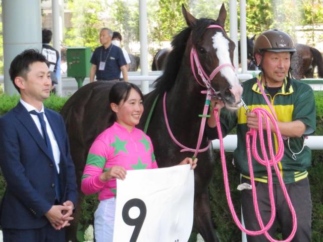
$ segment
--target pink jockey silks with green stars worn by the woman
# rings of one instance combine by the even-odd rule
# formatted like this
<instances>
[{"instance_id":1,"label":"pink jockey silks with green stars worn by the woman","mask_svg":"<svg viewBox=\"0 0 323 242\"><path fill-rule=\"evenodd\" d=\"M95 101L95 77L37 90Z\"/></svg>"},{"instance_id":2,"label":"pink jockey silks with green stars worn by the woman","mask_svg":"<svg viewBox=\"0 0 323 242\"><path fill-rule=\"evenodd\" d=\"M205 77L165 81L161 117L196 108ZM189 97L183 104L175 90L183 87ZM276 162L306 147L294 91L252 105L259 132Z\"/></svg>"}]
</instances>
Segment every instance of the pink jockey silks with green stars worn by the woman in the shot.
<instances>
[{"instance_id":1,"label":"pink jockey silks with green stars worn by the woman","mask_svg":"<svg viewBox=\"0 0 323 242\"><path fill-rule=\"evenodd\" d=\"M100 201L115 197L116 178L106 182L99 179L102 172L114 165L126 170L158 168L150 138L137 128L129 132L118 123L103 131L89 150L82 176L82 192L86 195L99 193Z\"/></svg>"}]
</instances>

